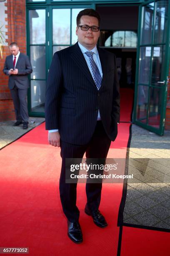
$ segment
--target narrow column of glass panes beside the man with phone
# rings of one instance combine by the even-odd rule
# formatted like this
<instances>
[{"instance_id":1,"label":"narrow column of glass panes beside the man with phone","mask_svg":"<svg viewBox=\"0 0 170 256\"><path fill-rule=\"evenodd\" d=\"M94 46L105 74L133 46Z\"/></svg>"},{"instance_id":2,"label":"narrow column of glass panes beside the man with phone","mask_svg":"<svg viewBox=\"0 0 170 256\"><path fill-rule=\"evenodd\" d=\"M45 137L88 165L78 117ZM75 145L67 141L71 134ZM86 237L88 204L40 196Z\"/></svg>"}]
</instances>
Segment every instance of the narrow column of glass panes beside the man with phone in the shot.
<instances>
[{"instance_id":1,"label":"narrow column of glass panes beside the man with phone","mask_svg":"<svg viewBox=\"0 0 170 256\"><path fill-rule=\"evenodd\" d=\"M27 13L28 20L28 55L33 72L30 75L28 90L29 115L43 116L45 111L45 84L47 78L47 8L31 8Z\"/></svg>"}]
</instances>

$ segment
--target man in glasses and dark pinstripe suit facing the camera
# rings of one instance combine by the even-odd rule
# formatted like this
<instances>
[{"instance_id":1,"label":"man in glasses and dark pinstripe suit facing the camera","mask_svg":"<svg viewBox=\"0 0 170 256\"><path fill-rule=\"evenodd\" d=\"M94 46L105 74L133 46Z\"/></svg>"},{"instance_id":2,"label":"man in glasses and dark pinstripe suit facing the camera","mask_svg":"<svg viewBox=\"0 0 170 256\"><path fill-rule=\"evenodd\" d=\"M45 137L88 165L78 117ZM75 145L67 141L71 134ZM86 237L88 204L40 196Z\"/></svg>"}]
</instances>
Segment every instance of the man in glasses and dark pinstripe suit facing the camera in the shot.
<instances>
[{"instance_id":1,"label":"man in glasses and dark pinstripe suit facing the camera","mask_svg":"<svg viewBox=\"0 0 170 256\"><path fill-rule=\"evenodd\" d=\"M100 49L100 16L93 9L77 15L78 42L57 51L47 79L46 129L52 146L61 147L60 199L67 217L68 236L82 242L75 183L65 182L65 159L106 159L117 136L120 94L115 55ZM86 183L85 213L100 228L107 226L100 213L102 183Z\"/></svg>"}]
</instances>

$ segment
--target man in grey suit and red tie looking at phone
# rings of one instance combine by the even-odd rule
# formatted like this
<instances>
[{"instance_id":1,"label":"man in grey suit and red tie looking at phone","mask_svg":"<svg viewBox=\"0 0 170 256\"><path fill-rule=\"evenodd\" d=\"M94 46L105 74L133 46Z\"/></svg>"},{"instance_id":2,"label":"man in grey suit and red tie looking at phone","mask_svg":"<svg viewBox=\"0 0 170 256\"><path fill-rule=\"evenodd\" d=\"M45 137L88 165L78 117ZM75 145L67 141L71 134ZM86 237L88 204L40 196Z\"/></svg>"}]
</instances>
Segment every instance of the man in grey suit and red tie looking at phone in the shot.
<instances>
[{"instance_id":1,"label":"man in grey suit and red tie looking at phone","mask_svg":"<svg viewBox=\"0 0 170 256\"><path fill-rule=\"evenodd\" d=\"M9 76L8 86L13 98L16 123L23 123L23 129L28 128L27 90L29 87L28 74L32 73L30 59L20 53L18 45L13 42L9 46L11 55L5 59L3 72Z\"/></svg>"}]
</instances>

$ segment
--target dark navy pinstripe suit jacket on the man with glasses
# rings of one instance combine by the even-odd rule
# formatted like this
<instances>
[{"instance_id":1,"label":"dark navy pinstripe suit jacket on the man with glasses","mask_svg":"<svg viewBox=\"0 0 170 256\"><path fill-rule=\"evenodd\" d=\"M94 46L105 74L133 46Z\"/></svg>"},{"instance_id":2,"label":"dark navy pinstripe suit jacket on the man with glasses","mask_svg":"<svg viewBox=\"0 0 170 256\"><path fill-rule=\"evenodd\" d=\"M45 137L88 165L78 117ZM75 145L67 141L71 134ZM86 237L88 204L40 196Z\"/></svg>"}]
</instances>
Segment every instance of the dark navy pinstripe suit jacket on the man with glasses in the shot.
<instances>
[{"instance_id":1,"label":"dark navy pinstripe suit jacket on the man with glasses","mask_svg":"<svg viewBox=\"0 0 170 256\"><path fill-rule=\"evenodd\" d=\"M117 136L120 94L115 55L97 47L102 84L97 90L76 43L57 51L50 66L45 103L46 129L59 129L62 141L84 145L94 133L98 110L109 138Z\"/></svg>"}]
</instances>

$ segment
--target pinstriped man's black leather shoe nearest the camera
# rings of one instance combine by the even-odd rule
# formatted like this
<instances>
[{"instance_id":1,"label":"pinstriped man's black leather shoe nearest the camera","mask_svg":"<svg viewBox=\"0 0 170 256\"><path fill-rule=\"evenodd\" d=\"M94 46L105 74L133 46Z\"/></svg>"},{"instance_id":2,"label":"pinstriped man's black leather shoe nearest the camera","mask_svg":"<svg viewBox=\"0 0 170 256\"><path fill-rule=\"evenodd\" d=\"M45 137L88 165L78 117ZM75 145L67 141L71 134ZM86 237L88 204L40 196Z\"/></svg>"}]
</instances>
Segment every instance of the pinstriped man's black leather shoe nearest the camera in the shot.
<instances>
[{"instance_id":1,"label":"pinstriped man's black leather shoe nearest the camera","mask_svg":"<svg viewBox=\"0 0 170 256\"><path fill-rule=\"evenodd\" d=\"M68 236L74 243L82 243L82 231L78 221L70 222L67 220Z\"/></svg>"}]
</instances>

